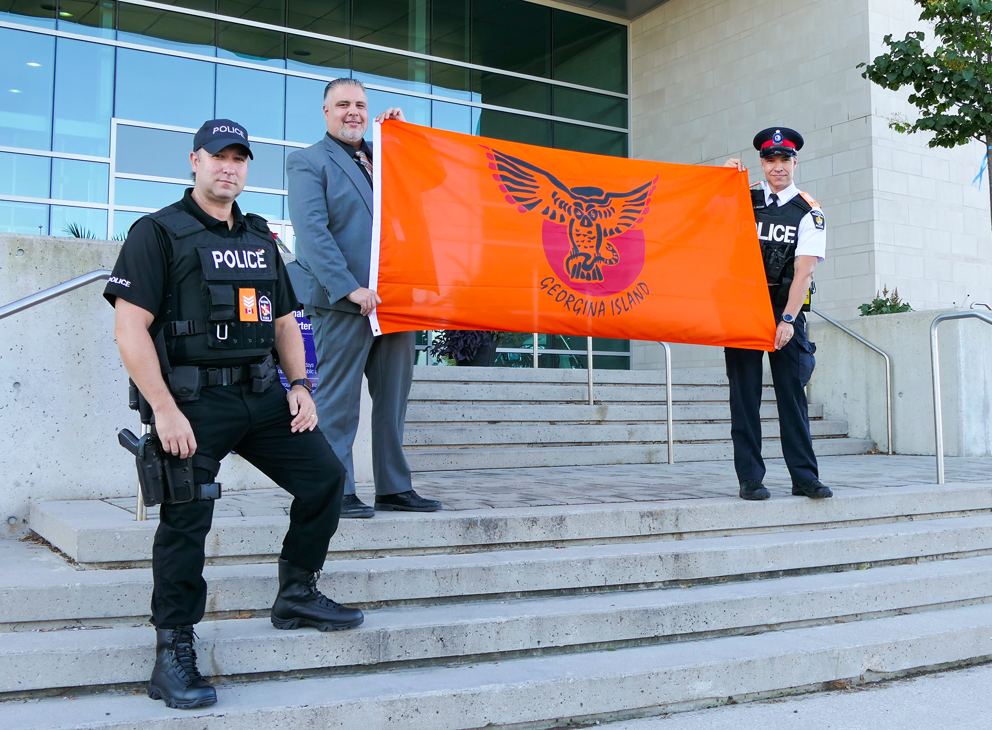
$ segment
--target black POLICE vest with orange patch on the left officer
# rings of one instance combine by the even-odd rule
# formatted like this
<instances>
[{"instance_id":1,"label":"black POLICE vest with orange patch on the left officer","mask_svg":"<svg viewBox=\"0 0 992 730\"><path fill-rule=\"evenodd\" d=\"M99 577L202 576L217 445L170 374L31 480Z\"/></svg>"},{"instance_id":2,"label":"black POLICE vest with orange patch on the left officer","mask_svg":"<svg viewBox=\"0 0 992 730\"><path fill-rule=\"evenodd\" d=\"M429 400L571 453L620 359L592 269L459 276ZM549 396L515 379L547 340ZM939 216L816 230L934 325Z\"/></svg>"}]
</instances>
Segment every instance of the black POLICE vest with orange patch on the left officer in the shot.
<instances>
[{"instance_id":1,"label":"black POLICE vest with orange patch on the left officer","mask_svg":"<svg viewBox=\"0 0 992 730\"><path fill-rule=\"evenodd\" d=\"M276 346L276 250L265 218L247 213L245 230L221 238L173 207L148 216L173 247L162 326L172 365L246 361Z\"/></svg>"}]
</instances>

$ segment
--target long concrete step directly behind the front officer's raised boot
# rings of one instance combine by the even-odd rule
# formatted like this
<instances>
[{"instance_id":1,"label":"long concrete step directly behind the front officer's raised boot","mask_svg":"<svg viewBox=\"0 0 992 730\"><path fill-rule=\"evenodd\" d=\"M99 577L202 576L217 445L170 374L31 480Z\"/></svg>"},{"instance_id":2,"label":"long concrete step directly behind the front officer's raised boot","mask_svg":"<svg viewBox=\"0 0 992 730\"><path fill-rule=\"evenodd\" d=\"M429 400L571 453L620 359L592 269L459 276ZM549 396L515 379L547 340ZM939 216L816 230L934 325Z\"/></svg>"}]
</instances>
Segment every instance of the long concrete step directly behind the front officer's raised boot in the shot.
<instances>
[{"instance_id":1,"label":"long concrete step directly behind the front officer's raised boot","mask_svg":"<svg viewBox=\"0 0 992 730\"><path fill-rule=\"evenodd\" d=\"M807 503L808 504L808 503ZM761 504L755 504L761 509ZM810 510L818 509L810 505ZM824 513L825 517L826 513ZM899 524L731 535L684 541L639 541L465 554L396 555L329 561L323 591L366 607L433 604L515 596L664 587L724 576L760 578L843 566L992 550L992 515ZM76 621L133 620L148 612L151 571L11 571L0 585L6 630ZM265 611L277 591L277 566L207 566L211 618Z\"/></svg>"}]
</instances>

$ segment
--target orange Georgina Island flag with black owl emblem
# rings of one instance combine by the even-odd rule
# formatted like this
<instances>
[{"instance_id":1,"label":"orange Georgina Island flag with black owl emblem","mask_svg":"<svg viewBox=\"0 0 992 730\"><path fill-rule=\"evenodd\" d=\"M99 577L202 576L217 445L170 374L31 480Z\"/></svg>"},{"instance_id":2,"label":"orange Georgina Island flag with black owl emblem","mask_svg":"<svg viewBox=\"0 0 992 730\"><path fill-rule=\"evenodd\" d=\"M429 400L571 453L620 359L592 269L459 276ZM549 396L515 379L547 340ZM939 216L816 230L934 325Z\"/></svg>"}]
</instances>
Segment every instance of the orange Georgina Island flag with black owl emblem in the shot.
<instances>
[{"instance_id":1,"label":"orange Georgina Island flag with black owl emblem","mask_svg":"<svg viewBox=\"0 0 992 730\"><path fill-rule=\"evenodd\" d=\"M774 349L747 174L373 128L375 334L492 329Z\"/></svg>"}]
</instances>

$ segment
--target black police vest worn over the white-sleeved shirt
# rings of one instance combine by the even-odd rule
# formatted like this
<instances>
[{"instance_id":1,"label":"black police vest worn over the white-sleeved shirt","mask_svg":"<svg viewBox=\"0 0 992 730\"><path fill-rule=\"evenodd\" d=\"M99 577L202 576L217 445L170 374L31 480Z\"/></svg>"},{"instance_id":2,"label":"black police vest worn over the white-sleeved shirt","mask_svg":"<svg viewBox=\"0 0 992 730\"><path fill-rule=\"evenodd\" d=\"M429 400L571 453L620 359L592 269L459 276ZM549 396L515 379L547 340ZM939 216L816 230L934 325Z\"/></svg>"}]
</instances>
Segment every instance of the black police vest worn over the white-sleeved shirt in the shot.
<instances>
[{"instance_id":1,"label":"black police vest worn over the white-sleeved shirt","mask_svg":"<svg viewBox=\"0 0 992 730\"><path fill-rule=\"evenodd\" d=\"M765 260L765 277L772 304L789 304L789 288L795 276L796 245L799 243L800 221L812 206L803 195L796 195L784 205L771 210L765 204L765 190L751 190L754 220Z\"/></svg>"}]
</instances>

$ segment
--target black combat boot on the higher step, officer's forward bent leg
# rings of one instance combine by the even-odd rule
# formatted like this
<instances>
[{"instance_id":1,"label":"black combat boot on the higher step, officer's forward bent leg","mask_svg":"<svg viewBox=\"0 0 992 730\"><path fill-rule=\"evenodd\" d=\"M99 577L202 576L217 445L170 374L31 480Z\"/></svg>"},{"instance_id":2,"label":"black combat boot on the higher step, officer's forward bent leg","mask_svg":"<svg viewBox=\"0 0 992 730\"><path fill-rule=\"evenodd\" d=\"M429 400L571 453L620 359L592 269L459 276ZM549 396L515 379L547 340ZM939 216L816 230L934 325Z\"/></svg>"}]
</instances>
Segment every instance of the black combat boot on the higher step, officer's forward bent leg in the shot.
<instances>
[{"instance_id":1,"label":"black combat boot on the higher step, officer's forward bent leg","mask_svg":"<svg viewBox=\"0 0 992 730\"><path fill-rule=\"evenodd\" d=\"M352 629L365 620L357 608L335 603L317 590L319 575L279 558L279 595L272 606L273 626L277 629L312 626L320 631L340 631Z\"/></svg>"}]
</instances>

